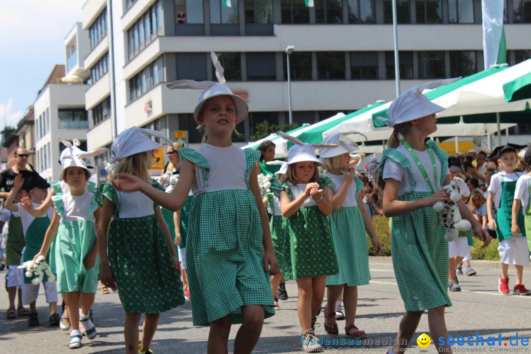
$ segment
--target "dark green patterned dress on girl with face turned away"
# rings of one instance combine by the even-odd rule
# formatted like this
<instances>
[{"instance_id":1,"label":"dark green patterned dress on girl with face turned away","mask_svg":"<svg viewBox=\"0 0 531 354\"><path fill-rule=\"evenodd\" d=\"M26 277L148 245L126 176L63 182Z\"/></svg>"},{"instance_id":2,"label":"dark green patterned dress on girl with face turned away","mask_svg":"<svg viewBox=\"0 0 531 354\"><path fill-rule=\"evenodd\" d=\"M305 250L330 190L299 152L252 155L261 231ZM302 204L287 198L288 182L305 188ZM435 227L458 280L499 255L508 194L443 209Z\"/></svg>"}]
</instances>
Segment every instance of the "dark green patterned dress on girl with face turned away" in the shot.
<instances>
[{"instance_id":1,"label":"dark green patterned dress on girl with face turned away","mask_svg":"<svg viewBox=\"0 0 531 354\"><path fill-rule=\"evenodd\" d=\"M153 186L164 191L155 181ZM140 217L126 217L126 211L139 213L135 205L121 203L112 184L100 185L99 191L116 205L115 218L109 226L107 249L125 312L160 313L183 305L183 284L157 215L153 212ZM138 205L143 205L140 208L150 211L158 208L143 194L138 201ZM99 203L103 203L103 198L99 199Z\"/></svg>"}]
</instances>

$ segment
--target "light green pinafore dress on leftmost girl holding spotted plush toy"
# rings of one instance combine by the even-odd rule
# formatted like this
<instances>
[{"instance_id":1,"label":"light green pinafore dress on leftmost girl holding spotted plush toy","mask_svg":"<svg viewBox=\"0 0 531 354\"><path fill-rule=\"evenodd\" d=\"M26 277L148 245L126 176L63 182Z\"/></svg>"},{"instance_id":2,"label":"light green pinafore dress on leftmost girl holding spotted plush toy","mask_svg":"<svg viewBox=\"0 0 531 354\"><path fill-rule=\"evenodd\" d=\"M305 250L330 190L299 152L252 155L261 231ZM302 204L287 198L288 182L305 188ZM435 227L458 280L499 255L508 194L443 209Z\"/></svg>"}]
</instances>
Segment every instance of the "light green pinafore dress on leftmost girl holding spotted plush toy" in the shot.
<instances>
[{"instance_id":1,"label":"light green pinafore dress on leftmost girl holding spotted plush toy","mask_svg":"<svg viewBox=\"0 0 531 354\"><path fill-rule=\"evenodd\" d=\"M57 236L50 247L50 269L57 275L57 292L67 293L72 291L96 293L99 275L99 255L96 265L85 269L83 260L94 247L96 247L96 228L93 217L98 209L96 202L96 184L88 182L85 193L89 193L90 204L88 208L68 209L66 198L70 195L70 188L63 181L52 182L55 195L52 197L55 211L61 217ZM63 190L64 189L64 190ZM79 220L65 221L66 215Z\"/></svg>"}]
</instances>

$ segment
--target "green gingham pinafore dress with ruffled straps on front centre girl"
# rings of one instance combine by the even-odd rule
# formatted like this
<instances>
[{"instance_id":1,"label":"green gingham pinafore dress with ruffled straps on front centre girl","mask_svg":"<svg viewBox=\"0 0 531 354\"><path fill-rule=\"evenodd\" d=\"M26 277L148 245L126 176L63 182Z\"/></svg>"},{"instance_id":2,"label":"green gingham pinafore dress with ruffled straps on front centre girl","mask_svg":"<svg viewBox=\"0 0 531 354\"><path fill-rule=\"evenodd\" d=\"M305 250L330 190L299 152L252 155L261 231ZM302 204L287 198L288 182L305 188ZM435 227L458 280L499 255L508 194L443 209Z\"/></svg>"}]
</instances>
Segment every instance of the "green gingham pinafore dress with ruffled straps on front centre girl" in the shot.
<instances>
[{"instance_id":1,"label":"green gingham pinafore dress with ruffled straps on front centre girl","mask_svg":"<svg viewBox=\"0 0 531 354\"><path fill-rule=\"evenodd\" d=\"M209 149L226 148L209 145ZM208 325L226 315L230 315L231 323L242 323L245 305L262 305L265 318L275 314L270 277L263 266L262 223L249 189L249 172L260 152L252 149L243 152L247 188L209 192L211 169L207 158L190 148L179 149L181 160L195 165L186 240L195 326ZM198 187L198 181L202 187Z\"/></svg>"}]
</instances>

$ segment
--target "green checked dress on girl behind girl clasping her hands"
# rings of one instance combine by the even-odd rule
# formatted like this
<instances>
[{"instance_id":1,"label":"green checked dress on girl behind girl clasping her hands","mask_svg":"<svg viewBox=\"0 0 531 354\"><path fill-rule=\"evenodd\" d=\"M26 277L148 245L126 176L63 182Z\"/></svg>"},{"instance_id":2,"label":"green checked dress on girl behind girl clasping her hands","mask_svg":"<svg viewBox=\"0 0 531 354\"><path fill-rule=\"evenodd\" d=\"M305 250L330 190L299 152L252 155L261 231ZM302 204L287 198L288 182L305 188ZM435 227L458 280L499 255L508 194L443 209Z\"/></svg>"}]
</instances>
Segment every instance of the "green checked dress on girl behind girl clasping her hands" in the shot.
<instances>
[{"instance_id":1,"label":"green checked dress on girl behind girl clasping her hands","mask_svg":"<svg viewBox=\"0 0 531 354\"><path fill-rule=\"evenodd\" d=\"M345 176L324 175L332 179L332 190L339 192ZM362 189L363 182L355 176L344 203L350 206L341 206L328 217L339 273L328 275L327 285L356 287L369 284L371 280L365 225L357 206L357 195Z\"/></svg>"}]
</instances>

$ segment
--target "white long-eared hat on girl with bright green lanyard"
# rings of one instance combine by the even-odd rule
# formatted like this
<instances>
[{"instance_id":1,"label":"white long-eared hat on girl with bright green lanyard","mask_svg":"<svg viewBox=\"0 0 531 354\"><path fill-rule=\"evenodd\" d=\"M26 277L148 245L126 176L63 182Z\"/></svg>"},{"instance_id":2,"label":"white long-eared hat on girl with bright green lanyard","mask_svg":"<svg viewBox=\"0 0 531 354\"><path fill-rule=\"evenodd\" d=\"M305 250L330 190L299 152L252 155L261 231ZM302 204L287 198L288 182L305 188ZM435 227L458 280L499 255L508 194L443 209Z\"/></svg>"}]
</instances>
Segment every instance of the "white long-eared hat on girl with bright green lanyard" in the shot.
<instances>
[{"instance_id":1,"label":"white long-eared hat on girl with bright green lanyard","mask_svg":"<svg viewBox=\"0 0 531 354\"><path fill-rule=\"evenodd\" d=\"M422 91L436 89L459 79L461 79L461 77L436 80L422 84L419 87L410 88L393 100L391 106L387 110L387 116L389 118L378 117L378 119L386 123L388 126L393 127L400 123L410 122L414 119L439 113L446 108L435 105L435 103L422 94Z\"/></svg>"}]
</instances>

